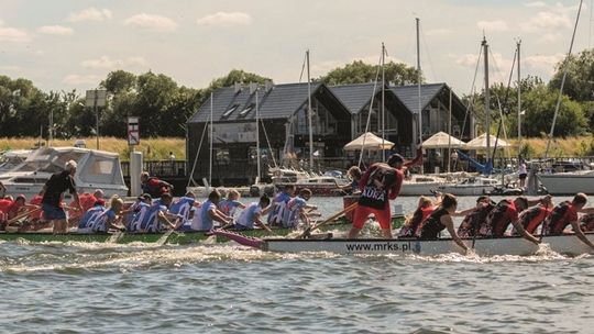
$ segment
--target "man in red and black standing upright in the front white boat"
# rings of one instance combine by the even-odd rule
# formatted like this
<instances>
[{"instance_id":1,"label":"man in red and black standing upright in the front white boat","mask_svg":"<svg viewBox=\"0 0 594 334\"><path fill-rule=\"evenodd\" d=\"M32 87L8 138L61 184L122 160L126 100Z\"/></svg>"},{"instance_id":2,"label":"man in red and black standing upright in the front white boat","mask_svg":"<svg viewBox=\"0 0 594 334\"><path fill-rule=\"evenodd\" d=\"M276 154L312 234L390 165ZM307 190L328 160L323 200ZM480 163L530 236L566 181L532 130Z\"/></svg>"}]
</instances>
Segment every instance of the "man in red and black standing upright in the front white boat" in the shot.
<instances>
[{"instance_id":1,"label":"man in red and black standing upright in the front white boat","mask_svg":"<svg viewBox=\"0 0 594 334\"><path fill-rule=\"evenodd\" d=\"M389 200L400 192L404 181L404 169L422 160L422 154L405 164L399 154L393 154L387 164L376 163L370 166L360 181L361 196L353 215L353 226L349 232L350 238L355 238L363 229L365 221L373 213L382 227L385 238L392 238L392 214Z\"/></svg>"}]
</instances>

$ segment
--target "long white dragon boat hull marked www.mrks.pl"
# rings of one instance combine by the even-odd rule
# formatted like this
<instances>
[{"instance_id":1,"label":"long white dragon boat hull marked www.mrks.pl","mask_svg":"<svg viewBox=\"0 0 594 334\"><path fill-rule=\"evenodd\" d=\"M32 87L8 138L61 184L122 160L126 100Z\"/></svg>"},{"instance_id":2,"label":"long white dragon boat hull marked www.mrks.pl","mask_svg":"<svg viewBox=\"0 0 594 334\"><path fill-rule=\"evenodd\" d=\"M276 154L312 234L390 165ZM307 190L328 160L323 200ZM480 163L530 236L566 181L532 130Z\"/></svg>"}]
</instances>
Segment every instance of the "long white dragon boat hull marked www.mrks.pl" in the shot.
<instances>
[{"instance_id":1,"label":"long white dragon boat hull marked www.mrks.pl","mask_svg":"<svg viewBox=\"0 0 594 334\"><path fill-rule=\"evenodd\" d=\"M463 250L451 238L435 241L419 240L378 240L378 238L253 238L230 232L216 231L215 234L227 236L242 245L256 247L267 252L301 253L328 252L336 254L391 254L391 255L421 255L436 256L450 253L462 254ZM328 234L331 236L331 234ZM586 237L594 242L594 233L586 233ZM474 248L479 256L517 255L527 256L536 254L540 248L520 236L506 236L498 238L476 238L473 245L471 238L463 240L469 248ZM575 235L544 236L542 244L548 244L552 252L563 255L580 255L592 253L592 248L580 241Z\"/></svg>"}]
</instances>

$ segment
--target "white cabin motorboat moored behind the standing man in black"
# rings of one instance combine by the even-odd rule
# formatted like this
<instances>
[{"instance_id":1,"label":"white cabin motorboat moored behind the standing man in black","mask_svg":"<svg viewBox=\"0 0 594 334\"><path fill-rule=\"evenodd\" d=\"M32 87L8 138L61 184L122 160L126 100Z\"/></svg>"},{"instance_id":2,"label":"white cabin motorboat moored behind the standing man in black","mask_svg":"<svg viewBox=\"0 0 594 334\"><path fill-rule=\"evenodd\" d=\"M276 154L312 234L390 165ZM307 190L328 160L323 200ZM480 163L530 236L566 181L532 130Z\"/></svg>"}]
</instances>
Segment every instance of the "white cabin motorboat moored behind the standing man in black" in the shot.
<instances>
[{"instance_id":1,"label":"white cabin motorboat moored behind the standing man in black","mask_svg":"<svg viewBox=\"0 0 594 334\"><path fill-rule=\"evenodd\" d=\"M128 196L118 154L78 147L41 147L11 170L0 174L7 193L31 198L40 192L52 174L64 170L68 160L78 164L74 179L78 192L102 189L106 197ZM66 193L68 196L68 193Z\"/></svg>"}]
</instances>

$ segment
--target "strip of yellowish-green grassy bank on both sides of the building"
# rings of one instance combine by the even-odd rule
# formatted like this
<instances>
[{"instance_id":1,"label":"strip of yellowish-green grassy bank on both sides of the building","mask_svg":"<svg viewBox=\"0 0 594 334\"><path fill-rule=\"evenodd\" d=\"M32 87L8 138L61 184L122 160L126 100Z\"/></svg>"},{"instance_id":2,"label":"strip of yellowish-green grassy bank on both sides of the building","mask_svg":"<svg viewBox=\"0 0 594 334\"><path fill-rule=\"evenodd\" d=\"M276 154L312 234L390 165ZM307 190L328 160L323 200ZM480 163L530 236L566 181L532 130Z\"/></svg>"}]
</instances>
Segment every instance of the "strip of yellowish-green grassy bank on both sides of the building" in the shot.
<instances>
[{"instance_id":1,"label":"strip of yellowish-green grassy bank on both sides of the building","mask_svg":"<svg viewBox=\"0 0 594 334\"><path fill-rule=\"evenodd\" d=\"M85 138L88 148L96 148L96 138ZM38 138L0 138L0 151L32 148L37 145ZM55 140L52 146L72 146L74 140ZM517 156L517 141L509 140L513 145L509 148L512 156ZM526 146L528 157L540 157L544 155L547 148L546 138L525 138L522 145ZM120 154L122 160L129 159L128 142L114 137L100 137L99 148ZM160 160L167 159L169 152L173 152L177 159L186 158L186 143L184 138L160 137L160 138L143 138L141 145L135 147L136 151L144 153L145 159ZM556 138L551 143L549 156L551 157L570 157L570 156L591 156L594 155L594 142L592 136Z\"/></svg>"}]
</instances>

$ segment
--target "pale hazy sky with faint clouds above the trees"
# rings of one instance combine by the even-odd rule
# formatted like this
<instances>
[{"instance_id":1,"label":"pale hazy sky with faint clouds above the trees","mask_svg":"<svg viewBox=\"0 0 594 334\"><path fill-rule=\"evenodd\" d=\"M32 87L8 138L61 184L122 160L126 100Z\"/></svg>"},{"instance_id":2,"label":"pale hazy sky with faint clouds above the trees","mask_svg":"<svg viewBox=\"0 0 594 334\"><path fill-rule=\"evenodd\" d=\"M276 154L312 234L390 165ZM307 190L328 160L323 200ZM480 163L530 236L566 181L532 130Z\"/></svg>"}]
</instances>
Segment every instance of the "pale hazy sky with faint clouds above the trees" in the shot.
<instances>
[{"instance_id":1,"label":"pale hazy sky with faint clouds above the trees","mask_svg":"<svg viewBox=\"0 0 594 334\"><path fill-rule=\"evenodd\" d=\"M96 88L107 74L147 70L205 88L231 69L298 82L356 59L416 66L428 82L469 93L483 33L493 81L507 81L521 40L521 76L549 80L568 53L580 1L536 0L0 0L0 75L44 91ZM591 45L584 0L574 53ZM516 75L514 75L516 76ZM483 88L479 71L475 90Z\"/></svg>"}]
</instances>

